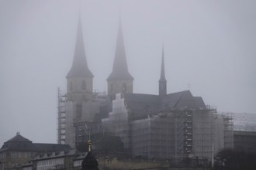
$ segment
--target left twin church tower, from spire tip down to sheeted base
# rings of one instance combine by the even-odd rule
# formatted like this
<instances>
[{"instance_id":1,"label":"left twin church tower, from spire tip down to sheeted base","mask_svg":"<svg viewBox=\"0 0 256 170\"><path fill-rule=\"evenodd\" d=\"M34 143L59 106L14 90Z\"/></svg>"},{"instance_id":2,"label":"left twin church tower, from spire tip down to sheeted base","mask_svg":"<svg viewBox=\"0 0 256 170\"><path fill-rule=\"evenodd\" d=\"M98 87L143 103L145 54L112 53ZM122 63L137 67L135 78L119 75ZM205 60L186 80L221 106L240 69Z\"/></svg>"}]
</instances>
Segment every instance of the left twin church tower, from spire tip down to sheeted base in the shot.
<instances>
[{"instance_id":1,"label":"left twin church tower, from spire tip down to sheeted base","mask_svg":"<svg viewBox=\"0 0 256 170\"><path fill-rule=\"evenodd\" d=\"M67 73L67 100L65 101L65 144L74 148L78 145L78 122L92 121L95 116L93 107L93 74L88 69L82 34L81 17L78 19L78 32L74 48L71 70ZM74 126L75 125L75 126Z\"/></svg>"}]
</instances>

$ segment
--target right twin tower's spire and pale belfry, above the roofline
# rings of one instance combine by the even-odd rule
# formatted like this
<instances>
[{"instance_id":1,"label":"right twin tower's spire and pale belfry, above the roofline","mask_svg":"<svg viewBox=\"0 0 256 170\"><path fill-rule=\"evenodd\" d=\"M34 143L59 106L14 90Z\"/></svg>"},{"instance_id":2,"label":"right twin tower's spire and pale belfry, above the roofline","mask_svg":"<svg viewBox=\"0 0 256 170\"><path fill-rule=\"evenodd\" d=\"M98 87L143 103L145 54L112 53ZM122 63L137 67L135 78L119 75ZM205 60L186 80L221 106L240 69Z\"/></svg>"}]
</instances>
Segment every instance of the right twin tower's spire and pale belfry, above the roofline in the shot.
<instances>
[{"instance_id":1,"label":"right twin tower's spire and pale belfry, above the roofline","mask_svg":"<svg viewBox=\"0 0 256 170\"><path fill-rule=\"evenodd\" d=\"M119 22L112 73L107 82L110 100L116 98L116 93L133 93L133 76L128 71L121 22Z\"/></svg>"}]
</instances>

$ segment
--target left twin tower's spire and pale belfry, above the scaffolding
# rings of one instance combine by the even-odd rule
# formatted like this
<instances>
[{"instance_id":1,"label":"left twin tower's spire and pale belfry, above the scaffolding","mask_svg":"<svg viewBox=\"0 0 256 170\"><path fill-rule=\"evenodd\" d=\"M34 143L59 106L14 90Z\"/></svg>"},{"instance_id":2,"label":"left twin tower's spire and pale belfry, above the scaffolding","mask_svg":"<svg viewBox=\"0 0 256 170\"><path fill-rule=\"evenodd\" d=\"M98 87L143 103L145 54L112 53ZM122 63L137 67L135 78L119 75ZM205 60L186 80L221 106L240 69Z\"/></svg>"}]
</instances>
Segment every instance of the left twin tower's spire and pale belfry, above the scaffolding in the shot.
<instances>
[{"instance_id":1,"label":"left twin tower's spire and pale belfry, above the scaffolding","mask_svg":"<svg viewBox=\"0 0 256 170\"><path fill-rule=\"evenodd\" d=\"M67 73L67 99L81 104L83 101L92 100L93 74L88 69L85 56L85 46L82 35L81 17L78 21L77 39L74 49L74 59L71 70Z\"/></svg>"}]
</instances>

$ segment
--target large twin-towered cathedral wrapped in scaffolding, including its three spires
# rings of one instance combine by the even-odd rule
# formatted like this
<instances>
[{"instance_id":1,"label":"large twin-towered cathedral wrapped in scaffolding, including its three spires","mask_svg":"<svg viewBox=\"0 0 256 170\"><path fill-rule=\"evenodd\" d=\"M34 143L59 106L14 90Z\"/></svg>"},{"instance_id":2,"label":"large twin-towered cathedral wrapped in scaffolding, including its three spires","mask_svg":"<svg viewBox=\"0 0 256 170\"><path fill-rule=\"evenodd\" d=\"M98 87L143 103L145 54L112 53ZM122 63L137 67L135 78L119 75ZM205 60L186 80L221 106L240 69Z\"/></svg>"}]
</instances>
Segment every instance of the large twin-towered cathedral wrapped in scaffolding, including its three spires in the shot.
<instances>
[{"instance_id":1,"label":"large twin-towered cathedral wrapped in scaffolding, including its three spires","mask_svg":"<svg viewBox=\"0 0 256 170\"><path fill-rule=\"evenodd\" d=\"M95 93L82 30L79 19L74 59L66 76L67 93L58 95L58 143L75 148L88 135L112 134L121 138L131 157L175 158L176 162L185 157L211 160L213 152L223 148L219 145L213 151L216 110L189 90L167 93L164 49L159 93L133 93L120 22L107 94Z\"/></svg>"}]
</instances>

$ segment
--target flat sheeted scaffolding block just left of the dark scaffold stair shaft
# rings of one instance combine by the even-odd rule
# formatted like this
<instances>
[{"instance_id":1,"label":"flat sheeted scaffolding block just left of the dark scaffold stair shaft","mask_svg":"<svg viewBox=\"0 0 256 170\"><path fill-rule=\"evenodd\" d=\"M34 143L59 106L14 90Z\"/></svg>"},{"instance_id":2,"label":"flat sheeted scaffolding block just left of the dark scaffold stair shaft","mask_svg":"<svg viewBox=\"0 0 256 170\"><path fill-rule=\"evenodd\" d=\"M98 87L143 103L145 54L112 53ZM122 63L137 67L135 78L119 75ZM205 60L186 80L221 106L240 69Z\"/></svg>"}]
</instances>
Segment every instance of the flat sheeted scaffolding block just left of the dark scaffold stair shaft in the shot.
<instances>
[{"instance_id":1,"label":"flat sheeted scaffolding block just left of the dark scaffold stair shaft","mask_svg":"<svg viewBox=\"0 0 256 170\"><path fill-rule=\"evenodd\" d=\"M171 159L175 150L174 114L148 115L131 126L132 154L135 157Z\"/></svg>"}]
</instances>

